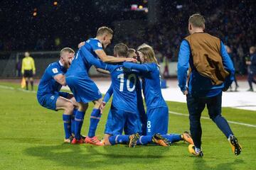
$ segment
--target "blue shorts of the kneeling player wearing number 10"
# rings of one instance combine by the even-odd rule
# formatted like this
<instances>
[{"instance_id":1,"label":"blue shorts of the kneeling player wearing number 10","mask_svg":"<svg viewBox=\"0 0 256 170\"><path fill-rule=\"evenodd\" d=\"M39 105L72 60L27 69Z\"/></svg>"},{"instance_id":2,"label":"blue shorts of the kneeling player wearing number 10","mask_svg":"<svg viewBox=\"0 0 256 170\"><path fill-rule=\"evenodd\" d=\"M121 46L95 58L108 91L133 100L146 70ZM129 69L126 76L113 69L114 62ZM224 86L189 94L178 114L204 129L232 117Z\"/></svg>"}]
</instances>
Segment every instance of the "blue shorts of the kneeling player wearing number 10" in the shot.
<instances>
[{"instance_id":1,"label":"blue shorts of the kneeling player wearing number 10","mask_svg":"<svg viewBox=\"0 0 256 170\"><path fill-rule=\"evenodd\" d=\"M137 132L140 133L142 131L141 129L141 123L137 113L118 110L111 106L107 116L105 134L122 135L124 130L125 135L132 135Z\"/></svg>"}]
</instances>

